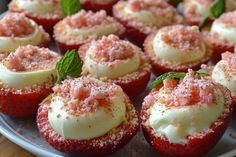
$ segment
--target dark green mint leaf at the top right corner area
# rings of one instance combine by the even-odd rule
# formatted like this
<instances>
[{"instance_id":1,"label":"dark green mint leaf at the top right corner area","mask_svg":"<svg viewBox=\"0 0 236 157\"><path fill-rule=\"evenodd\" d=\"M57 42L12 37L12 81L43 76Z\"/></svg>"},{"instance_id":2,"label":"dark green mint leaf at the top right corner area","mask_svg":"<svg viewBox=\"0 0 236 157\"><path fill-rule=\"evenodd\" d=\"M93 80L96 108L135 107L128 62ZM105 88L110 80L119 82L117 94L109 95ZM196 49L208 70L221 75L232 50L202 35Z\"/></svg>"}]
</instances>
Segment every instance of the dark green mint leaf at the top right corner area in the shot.
<instances>
[{"instance_id":1,"label":"dark green mint leaf at the top right corner area","mask_svg":"<svg viewBox=\"0 0 236 157\"><path fill-rule=\"evenodd\" d=\"M212 5L210 12L213 17L219 17L225 12L225 0L216 0Z\"/></svg>"}]
</instances>

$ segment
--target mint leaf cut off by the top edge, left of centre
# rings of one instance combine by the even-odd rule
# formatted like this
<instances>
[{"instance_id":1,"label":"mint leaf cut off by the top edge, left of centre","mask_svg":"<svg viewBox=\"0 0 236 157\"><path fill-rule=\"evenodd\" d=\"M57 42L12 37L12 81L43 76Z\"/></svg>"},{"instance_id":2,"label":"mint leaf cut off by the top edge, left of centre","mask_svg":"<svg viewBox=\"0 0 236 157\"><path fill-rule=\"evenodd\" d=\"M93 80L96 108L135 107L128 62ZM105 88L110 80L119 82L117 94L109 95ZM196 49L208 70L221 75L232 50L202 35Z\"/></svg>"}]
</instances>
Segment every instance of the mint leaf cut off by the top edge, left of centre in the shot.
<instances>
[{"instance_id":1,"label":"mint leaf cut off by the top edge, left of centre","mask_svg":"<svg viewBox=\"0 0 236 157\"><path fill-rule=\"evenodd\" d=\"M64 16L70 16L80 11L80 0L61 0L61 10Z\"/></svg>"}]
</instances>

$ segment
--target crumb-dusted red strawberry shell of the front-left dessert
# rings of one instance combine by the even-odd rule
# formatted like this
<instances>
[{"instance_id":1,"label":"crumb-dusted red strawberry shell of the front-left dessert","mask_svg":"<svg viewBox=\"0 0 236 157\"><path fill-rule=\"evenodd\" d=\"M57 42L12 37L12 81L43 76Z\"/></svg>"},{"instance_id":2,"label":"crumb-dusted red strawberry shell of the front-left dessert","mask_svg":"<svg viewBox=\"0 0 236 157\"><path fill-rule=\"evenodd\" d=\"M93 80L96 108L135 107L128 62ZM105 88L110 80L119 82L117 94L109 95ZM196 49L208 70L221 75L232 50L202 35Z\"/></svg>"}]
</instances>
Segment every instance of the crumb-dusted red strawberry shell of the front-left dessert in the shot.
<instances>
[{"instance_id":1,"label":"crumb-dusted red strawberry shell of the front-left dessert","mask_svg":"<svg viewBox=\"0 0 236 157\"><path fill-rule=\"evenodd\" d=\"M38 109L37 125L45 140L55 149L66 153L84 153L105 155L117 151L137 133L139 129L138 115L127 97L127 121L100 137L88 140L64 139L50 125L48 111L50 100L41 103Z\"/></svg>"}]
</instances>

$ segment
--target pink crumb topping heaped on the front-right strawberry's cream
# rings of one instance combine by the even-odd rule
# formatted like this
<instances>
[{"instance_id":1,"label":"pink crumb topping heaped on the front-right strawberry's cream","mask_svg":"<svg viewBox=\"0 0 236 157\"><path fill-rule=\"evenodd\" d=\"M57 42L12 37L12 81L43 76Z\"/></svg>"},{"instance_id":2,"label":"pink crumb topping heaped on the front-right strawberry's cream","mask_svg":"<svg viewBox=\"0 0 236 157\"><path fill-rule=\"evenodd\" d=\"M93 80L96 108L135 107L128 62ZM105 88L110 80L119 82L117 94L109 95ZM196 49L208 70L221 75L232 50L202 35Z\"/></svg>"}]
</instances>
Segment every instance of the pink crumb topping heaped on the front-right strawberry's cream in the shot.
<instances>
[{"instance_id":1,"label":"pink crumb topping heaped on the front-right strawberry's cream","mask_svg":"<svg viewBox=\"0 0 236 157\"><path fill-rule=\"evenodd\" d=\"M215 85L211 81L194 74L192 70L188 71L177 86L169 88L169 84L166 81L164 82L164 88L170 89L170 94L166 98L166 106L168 107L191 106L199 102L211 105L215 100ZM171 82L171 84L175 84L175 82Z\"/></svg>"}]
</instances>

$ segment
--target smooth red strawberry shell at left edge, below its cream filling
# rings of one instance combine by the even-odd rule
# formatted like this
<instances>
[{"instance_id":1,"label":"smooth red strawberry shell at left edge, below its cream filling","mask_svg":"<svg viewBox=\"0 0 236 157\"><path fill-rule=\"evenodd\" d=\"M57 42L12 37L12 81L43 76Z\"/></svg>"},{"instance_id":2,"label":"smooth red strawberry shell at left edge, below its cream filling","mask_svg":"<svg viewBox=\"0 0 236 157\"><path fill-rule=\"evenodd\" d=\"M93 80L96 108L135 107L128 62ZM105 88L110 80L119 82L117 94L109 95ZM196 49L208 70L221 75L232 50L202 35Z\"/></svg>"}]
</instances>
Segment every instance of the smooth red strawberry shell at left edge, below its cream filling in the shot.
<instances>
[{"instance_id":1,"label":"smooth red strawberry shell at left edge, below its cream filling","mask_svg":"<svg viewBox=\"0 0 236 157\"><path fill-rule=\"evenodd\" d=\"M36 114L39 103L51 93L51 88L19 92L0 88L0 112L13 117L30 117Z\"/></svg>"}]
</instances>

